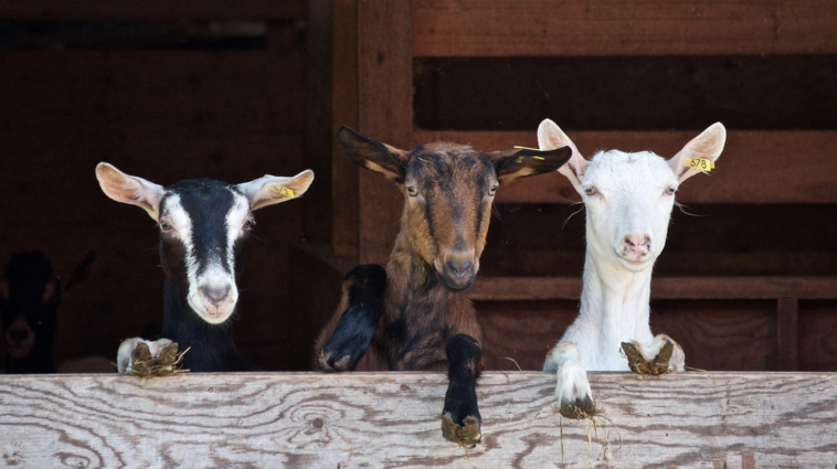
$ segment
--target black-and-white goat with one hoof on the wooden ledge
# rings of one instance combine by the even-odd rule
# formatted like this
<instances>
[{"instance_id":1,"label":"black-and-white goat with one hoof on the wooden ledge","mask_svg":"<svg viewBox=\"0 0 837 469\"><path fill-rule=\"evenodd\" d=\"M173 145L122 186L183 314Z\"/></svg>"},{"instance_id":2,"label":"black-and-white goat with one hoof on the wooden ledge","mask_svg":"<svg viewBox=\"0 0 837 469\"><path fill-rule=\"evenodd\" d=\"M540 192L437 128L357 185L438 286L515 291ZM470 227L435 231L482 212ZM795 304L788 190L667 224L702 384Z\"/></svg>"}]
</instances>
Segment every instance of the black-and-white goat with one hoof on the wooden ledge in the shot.
<instances>
[{"instance_id":1,"label":"black-and-white goat with one hoof on the wooden ledge","mask_svg":"<svg viewBox=\"0 0 837 469\"><path fill-rule=\"evenodd\" d=\"M314 172L242 184L186 180L163 188L99 163L96 178L107 196L144 209L159 226L165 274L160 335L181 350L191 348L183 366L199 372L252 370L235 350L229 321L239 301L242 241L255 226L254 210L303 195ZM139 341L129 339L119 348L120 372L124 355Z\"/></svg>"}]
</instances>

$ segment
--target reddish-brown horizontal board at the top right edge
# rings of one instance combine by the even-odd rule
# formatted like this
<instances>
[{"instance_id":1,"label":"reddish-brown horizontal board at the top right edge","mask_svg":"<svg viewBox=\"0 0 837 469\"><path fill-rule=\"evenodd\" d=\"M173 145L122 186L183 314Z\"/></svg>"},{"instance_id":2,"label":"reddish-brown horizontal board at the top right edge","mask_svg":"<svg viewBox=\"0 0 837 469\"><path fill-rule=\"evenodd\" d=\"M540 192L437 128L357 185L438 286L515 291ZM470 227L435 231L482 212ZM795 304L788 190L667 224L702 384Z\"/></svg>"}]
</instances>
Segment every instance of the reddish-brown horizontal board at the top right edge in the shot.
<instances>
[{"instance_id":1,"label":"reddish-brown horizontal board at the top right edge","mask_svg":"<svg viewBox=\"0 0 837 469\"><path fill-rule=\"evenodd\" d=\"M827 54L828 0L416 0L416 56Z\"/></svg>"}]
</instances>

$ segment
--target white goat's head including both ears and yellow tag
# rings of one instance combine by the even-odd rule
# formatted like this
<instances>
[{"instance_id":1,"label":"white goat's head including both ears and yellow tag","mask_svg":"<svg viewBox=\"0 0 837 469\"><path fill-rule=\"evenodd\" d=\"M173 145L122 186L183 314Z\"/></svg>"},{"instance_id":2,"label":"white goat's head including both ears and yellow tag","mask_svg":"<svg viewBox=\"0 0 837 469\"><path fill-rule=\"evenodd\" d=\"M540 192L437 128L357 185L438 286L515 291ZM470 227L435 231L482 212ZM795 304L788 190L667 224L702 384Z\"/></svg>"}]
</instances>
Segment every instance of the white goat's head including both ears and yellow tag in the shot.
<instances>
[{"instance_id":1,"label":"white goat's head including both ears and yellow tag","mask_svg":"<svg viewBox=\"0 0 837 469\"><path fill-rule=\"evenodd\" d=\"M701 172L686 163L695 158L713 162L725 139L727 130L719 122L669 160L650 151L611 150L587 161L553 121L545 119L538 128L542 150L563 146L573 150L559 171L584 202L591 254L631 271L649 268L663 252L677 188Z\"/></svg>"}]
</instances>

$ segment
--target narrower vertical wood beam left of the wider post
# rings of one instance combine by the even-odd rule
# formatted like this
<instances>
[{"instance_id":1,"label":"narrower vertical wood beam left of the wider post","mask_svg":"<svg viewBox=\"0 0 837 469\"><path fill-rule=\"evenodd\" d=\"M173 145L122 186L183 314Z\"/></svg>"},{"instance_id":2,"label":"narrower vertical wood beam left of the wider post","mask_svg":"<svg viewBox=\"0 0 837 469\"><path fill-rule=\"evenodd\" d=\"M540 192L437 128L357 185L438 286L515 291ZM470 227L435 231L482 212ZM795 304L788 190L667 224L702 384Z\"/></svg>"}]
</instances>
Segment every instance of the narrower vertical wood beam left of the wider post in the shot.
<instances>
[{"instance_id":1,"label":"narrower vertical wood beam left of the wider post","mask_svg":"<svg viewBox=\"0 0 837 469\"><path fill-rule=\"evenodd\" d=\"M338 257L358 257L358 167L335 141L342 126L358 128L358 0L332 0L331 248Z\"/></svg>"}]
</instances>

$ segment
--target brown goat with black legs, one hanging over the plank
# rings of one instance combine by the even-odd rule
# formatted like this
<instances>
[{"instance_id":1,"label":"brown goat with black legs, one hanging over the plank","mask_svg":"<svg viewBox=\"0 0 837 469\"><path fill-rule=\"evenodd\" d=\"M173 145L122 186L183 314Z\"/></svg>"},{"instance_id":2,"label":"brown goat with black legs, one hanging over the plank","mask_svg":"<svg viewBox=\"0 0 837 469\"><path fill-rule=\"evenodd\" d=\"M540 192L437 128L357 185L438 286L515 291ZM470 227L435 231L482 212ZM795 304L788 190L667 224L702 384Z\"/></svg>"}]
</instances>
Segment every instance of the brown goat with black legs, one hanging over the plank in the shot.
<instances>
[{"instance_id":1,"label":"brown goat with black legs, one hanging over the plank","mask_svg":"<svg viewBox=\"0 0 837 469\"><path fill-rule=\"evenodd\" d=\"M486 153L446 142L407 152L348 127L337 140L350 160L394 181L406 196L386 270L368 265L349 273L317 342L318 365L354 370L365 353L370 370L447 370L442 433L472 446L480 439L475 386L483 331L462 292L479 270L495 192L500 183L555 171L572 152Z\"/></svg>"}]
</instances>

